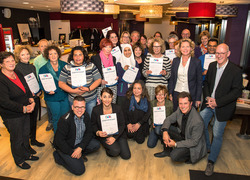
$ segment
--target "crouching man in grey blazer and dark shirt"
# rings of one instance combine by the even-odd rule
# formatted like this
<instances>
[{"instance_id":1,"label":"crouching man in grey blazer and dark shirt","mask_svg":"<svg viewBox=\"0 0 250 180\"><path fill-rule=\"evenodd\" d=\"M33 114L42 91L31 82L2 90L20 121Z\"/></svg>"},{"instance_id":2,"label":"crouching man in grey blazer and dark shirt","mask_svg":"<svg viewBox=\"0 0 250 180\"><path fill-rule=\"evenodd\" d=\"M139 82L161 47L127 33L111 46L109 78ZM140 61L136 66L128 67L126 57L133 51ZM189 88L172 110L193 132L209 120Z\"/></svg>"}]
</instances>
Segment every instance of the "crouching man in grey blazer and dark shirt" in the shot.
<instances>
[{"instance_id":1,"label":"crouching man in grey blazer and dark shirt","mask_svg":"<svg viewBox=\"0 0 250 180\"><path fill-rule=\"evenodd\" d=\"M164 151L155 156L170 156L176 162L196 163L207 154L204 123L192 106L189 93L181 92L178 100L179 108L165 119L161 128ZM173 126L175 123L177 127Z\"/></svg>"}]
</instances>

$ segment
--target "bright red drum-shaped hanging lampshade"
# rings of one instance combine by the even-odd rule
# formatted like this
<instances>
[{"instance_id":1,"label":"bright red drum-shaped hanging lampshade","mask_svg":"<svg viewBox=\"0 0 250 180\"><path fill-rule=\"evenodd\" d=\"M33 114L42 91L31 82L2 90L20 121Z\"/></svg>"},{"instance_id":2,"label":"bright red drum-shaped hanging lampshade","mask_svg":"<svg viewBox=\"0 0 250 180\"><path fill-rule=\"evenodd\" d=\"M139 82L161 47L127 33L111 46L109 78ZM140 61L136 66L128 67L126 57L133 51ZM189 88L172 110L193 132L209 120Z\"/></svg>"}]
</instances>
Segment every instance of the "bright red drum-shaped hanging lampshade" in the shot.
<instances>
[{"instance_id":1,"label":"bright red drum-shaped hanging lampshade","mask_svg":"<svg viewBox=\"0 0 250 180\"><path fill-rule=\"evenodd\" d=\"M189 18L214 18L216 3L190 3Z\"/></svg>"}]
</instances>

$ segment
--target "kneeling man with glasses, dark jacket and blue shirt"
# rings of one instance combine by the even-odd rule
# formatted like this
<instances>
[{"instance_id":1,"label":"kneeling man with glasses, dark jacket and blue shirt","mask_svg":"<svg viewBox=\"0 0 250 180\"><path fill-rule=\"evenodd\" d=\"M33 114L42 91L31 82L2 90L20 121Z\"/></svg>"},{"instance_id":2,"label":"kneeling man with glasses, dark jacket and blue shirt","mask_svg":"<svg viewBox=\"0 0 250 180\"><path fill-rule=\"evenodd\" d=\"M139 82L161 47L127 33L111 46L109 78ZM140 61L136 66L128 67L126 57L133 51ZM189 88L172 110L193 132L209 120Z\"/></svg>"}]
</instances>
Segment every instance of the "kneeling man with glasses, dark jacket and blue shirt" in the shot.
<instances>
[{"instance_id":1,"label":"kneeling man with glasses, dark jacket and blue shirt","mask_svg":"<svg viewBox=\"0 0 250 180\"><path fill-rule=\"evenodd\" d=\"M60 118L54 138L55 162L75 175L85 172L84 159L87 159L84 155L100 148L99 141L93 138L91 121L85 109L84 97L76 96L72 110Z\"/></svg>"}]
</instances>

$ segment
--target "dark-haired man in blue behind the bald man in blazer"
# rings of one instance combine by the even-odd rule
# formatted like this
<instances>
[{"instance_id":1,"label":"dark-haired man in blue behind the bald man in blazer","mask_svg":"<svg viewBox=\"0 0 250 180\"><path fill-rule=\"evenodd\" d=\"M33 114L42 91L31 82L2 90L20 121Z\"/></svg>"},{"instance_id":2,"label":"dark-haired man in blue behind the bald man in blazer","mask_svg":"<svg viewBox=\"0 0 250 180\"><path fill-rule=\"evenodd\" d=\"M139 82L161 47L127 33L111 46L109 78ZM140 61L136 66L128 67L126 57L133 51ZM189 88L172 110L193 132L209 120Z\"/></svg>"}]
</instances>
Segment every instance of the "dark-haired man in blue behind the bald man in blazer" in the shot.
<instances>
[{"instance_id":1,"label":"dark-haired man in blue behind the bald man in blazer","mask_svg":"<svg viewBox=\"0 0 250 180\"><path fill-rule=\"evenodd\" d=\"M207 53L206 54L215 54L216 47L218 46L218 40L217 39L209 39L208 45L207 45ZM202 80L205 80L207 69L204 69L204 62L205 62L205 55L203 54L199 57L201 60L201 66L202 66Z\"/></svg>"}]
</instances>

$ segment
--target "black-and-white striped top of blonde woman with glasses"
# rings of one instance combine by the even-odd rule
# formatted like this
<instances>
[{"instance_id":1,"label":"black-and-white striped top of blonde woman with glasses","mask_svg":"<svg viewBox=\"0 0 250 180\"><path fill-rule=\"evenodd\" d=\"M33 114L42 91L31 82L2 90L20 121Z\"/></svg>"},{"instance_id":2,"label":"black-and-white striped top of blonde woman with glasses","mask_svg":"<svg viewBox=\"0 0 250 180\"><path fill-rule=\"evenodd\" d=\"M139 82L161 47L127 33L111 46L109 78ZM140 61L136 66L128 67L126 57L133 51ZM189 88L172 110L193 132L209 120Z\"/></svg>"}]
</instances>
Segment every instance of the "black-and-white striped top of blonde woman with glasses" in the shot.
<instances>
[{"instance_id":1,"label":"black-and-white striped top of blonde woman with glasses","mask_svg":"<svg viewBox=\"0 0 250 180\"><path fill-rule=\"evenodd\" d=\"M145 58L144 61L144 67L142 70L142 74L143 76L146 78L146 84L147 86L151 86L151 87L156 87L158 85L168 85L168 79L171 76L171 61L170 59L163 55L163 67L162 70L165 70L167 72L167 74L165 76L149 76L147 75L146 71L149 70L149 61L150 58L152 58L152 54L148 53L147 57Z\"/></svg>"}]
</instances>

